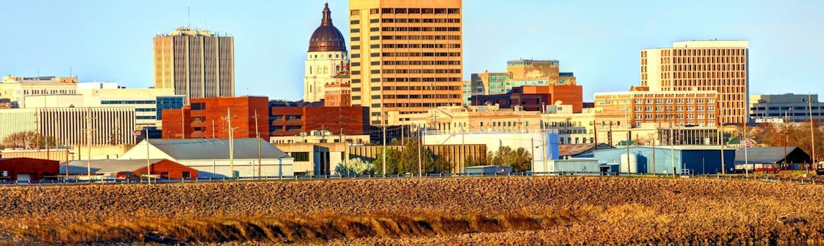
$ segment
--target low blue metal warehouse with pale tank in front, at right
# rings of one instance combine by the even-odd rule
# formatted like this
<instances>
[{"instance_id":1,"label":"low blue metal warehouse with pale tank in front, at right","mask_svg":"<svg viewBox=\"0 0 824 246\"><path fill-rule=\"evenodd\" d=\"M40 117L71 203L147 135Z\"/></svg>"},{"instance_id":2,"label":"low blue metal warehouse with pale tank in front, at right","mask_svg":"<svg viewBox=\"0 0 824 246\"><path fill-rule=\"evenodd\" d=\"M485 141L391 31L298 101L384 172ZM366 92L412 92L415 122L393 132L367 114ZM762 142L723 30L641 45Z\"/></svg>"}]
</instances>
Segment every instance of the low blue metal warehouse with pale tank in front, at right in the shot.
<instances>
[{"instance_id":1,"label":"low blue metal warehouse with pale tank in front, at right","mask_svg":"<svg viewBox=\"0 0 824 246\"><path fill-rule=\"evenodd\" d=\"M630 146L630 158L626 147L595 151L595 158L603 164L635 165L637 168L620 169L620 173L637 174L720 174L721 148L719 146L656 146L653 158L652 146ZM629 159L629 160L627 160ZM735 149L723 151L723 169L733 173Z\"/></svg>"}]
</instances>

